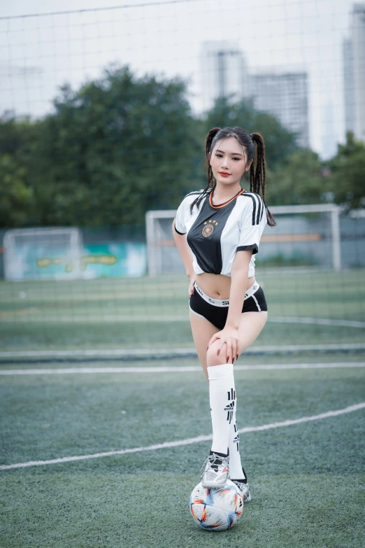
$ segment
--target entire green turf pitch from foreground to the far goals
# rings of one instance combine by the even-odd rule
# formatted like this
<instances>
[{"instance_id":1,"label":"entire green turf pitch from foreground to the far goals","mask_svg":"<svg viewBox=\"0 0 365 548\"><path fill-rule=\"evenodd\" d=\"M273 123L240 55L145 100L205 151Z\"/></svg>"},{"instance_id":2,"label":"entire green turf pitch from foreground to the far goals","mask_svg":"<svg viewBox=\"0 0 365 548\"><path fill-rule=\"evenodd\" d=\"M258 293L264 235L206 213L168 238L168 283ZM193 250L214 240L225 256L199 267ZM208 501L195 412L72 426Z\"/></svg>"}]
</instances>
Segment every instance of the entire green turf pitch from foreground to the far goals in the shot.
<instances>
[{"instance_id":1,"label":"entire green turf pitch from foreground to the far goals","mask_svg":"<svg viewBox=\"0 0 365 548\"><path fill-rule=\"evenodd\" d=\"M252 501L224 533L189 514L211 424L197 358L174 354L187 280L0 284L1 548L365 546L364 271L257 279L263 355L234 366Z\"/></svg>"}]
</instances>

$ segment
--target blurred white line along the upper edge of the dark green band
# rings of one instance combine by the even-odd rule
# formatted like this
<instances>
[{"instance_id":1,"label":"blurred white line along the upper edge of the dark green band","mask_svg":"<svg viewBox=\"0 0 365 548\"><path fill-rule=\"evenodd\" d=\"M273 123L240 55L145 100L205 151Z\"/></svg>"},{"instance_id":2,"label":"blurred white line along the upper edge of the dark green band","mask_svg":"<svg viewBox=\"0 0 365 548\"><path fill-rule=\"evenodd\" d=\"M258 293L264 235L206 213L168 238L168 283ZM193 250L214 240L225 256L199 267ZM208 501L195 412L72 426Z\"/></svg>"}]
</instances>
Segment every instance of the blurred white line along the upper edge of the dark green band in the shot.
<instances>
[{"instance_id":1,"label":"blurred white line along the upper edge of the dark green band","mask_svg":"<svg viewBox=\"0 0 365 548\"><path fill-rule=\"evenodd\" d=\"M262 352L288 352L288 351L311 351L311 350L365 350L365 343L355 342L348 344L289 344L275 346L255 346L245 351L245 355ZM89 350L20 350L20 351L1 351L1 358L80 358L105 356L178 356L185 354L196 354L194 348L183 349L89 349Z\"/></svg>"}]
</instances>

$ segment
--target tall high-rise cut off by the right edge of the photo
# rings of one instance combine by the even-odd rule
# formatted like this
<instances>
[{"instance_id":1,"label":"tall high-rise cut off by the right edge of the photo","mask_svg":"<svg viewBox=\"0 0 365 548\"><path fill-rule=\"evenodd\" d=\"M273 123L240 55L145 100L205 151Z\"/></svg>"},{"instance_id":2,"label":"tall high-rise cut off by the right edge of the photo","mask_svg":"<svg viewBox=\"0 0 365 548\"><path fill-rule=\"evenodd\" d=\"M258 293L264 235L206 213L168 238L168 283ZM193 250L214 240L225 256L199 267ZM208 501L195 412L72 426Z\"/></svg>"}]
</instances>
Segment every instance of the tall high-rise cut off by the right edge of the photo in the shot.
<instances>
[{"instance_id":1,"label":"tall high-rise cut off by the right edge of the photo","mask_svg":"<svg viewBox=\"0 0 365 548\"><path fill-rule=\"evenodd\" d=\"M343 41L345 129L365 141L365 3L352 7L350 38Z\"/></svg>"}]
</instances>

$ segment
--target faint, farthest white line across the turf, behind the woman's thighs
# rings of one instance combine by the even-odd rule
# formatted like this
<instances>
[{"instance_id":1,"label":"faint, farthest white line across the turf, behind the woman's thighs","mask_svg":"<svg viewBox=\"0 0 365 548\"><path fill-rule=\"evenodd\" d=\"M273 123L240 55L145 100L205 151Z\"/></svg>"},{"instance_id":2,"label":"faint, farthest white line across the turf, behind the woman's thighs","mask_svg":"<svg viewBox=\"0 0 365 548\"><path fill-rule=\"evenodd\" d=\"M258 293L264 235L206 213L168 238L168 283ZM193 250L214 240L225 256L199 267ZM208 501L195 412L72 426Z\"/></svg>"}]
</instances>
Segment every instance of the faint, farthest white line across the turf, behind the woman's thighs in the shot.
<instances>
[{"instance_id":1,"label":"faint, farthest white line across the turf, behind the woman's thighs","mask_svg":"<svg viewBox=\"0 0 365 548\"><path fill-rule=\"evenodd\" d=\"M20 316L18 314L7 314L6 316L0 317L1 323L7 323L8 321L15 321L16 323L100 323L100 322L119 322L119 323L141 323L141 322L188 322L189 316L184 315L160 315L151 316L148 314L91 314L85 316L85 314L72 314L70 315L54 315L54 316L45 316L39 314L39 316L34 315L36 310L24 311ZM37 312L38 314L38 312ZM365 328L365 322L361 321L350 321L350 320L330 320L328 318L297 318L292 316L269 316L268 321L275 323L310 323L315 325L331 325L336 327L346 327L346 328Z\"/></svg>"}]
</instances>

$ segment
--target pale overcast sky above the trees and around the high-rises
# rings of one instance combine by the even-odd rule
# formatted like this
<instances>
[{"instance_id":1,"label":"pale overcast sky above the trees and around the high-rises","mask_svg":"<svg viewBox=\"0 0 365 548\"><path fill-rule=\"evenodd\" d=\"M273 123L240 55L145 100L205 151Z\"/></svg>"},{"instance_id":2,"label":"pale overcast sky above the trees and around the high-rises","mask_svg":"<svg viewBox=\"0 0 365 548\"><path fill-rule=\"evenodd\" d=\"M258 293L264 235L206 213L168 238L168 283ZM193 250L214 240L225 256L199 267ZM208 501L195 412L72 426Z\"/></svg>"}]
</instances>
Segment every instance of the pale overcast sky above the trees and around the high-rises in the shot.
<instances>
[{"instance_id":1,"label":"pale overcast sky above the trees and around the high-rises","mask_svg":"<svg viewBox=\"0 0 365 548\"><path fill-rule=\"evenodd\" d=\"M0 0L0 113L43 115L59 85L77 88L110 62L129 64L137 74L183 76L199 112L201 43L229 40L252 71L308 71L310 144L322 153L324 134L327 141L343 141L342 43L350 32L352 1L124 2L128 7L97 10L108 1ZM73 13L21 17L68 10Z\"/></svg>"}]
</instances>

